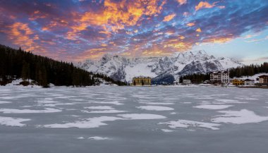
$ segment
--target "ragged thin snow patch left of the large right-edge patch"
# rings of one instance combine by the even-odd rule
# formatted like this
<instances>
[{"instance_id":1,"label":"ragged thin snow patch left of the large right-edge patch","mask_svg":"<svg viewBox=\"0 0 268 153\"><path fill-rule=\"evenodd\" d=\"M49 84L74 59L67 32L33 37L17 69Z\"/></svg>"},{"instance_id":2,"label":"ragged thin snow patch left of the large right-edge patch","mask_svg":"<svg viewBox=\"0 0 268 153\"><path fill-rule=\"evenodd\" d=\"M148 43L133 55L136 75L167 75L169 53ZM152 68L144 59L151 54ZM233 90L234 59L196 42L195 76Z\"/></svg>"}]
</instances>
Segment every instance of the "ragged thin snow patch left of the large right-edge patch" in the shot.
<instances>
[{"instance_id":1,"label":"ragged thin snow patch left of the large right-edge patch","mask_svg":"<svg viewBox=\"0 0 268 153\"><path fill-rule=\"evenodd\" d=\"M178 120L178 121L169 121L163 122L159 124L167 124L169 128L209 128L211 130L219 130L217 126L221 126L217 123L205 123L205 122L198 122L198 121L188 121L188 120ZM216 127L215 127L216 126Z\"/></svg>"}]
</instances>

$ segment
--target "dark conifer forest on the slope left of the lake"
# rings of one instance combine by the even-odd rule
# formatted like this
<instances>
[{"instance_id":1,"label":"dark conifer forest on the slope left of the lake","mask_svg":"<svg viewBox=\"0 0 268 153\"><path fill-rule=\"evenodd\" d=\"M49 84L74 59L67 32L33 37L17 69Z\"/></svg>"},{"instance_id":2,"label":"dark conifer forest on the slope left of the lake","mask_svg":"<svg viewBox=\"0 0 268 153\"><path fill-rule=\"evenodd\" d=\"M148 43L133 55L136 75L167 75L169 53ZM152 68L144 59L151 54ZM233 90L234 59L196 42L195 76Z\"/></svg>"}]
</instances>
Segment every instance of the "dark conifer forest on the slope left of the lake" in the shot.
<instances>
[{"instance_id":1,"label":"dark conifer forest on the slope left of the lake","mask_svg":"<svg viewBox=\"0 0 268 153\"><path fill-rule=\"evenodd\" d=\"M126 85L125 82L114 81L106 75L93 74L76 68L73 63L55 61L44 56L37 56L22 49L12 49L0 44L0 78L1 84L10 78L35 80L39 85L48 87L49 83L56 86L88 86L99 82L102 78L117 85Z\"/></svg>"}]
</instances>

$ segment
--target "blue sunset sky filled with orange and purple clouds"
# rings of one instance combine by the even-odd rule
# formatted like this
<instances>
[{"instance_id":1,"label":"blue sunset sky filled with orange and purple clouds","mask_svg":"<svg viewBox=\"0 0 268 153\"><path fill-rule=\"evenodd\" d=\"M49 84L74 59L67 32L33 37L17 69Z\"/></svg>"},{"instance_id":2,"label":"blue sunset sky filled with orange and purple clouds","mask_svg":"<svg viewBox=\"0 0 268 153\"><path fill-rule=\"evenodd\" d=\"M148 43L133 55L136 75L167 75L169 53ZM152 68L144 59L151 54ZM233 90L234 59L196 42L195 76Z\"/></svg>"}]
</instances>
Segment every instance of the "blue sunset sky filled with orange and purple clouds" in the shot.
<instances>
[{"instance_id":1,"label":"blue sunset sky filled with orange and purple clouds","mask_svg":"<svg viewBox=\"0 0 268 153\"><path fill-rule=\"evenodd\" d=\"M0 0L0 44L63 61L205 50L268 61L267 0Z\"/></svg>"}]
</instances>

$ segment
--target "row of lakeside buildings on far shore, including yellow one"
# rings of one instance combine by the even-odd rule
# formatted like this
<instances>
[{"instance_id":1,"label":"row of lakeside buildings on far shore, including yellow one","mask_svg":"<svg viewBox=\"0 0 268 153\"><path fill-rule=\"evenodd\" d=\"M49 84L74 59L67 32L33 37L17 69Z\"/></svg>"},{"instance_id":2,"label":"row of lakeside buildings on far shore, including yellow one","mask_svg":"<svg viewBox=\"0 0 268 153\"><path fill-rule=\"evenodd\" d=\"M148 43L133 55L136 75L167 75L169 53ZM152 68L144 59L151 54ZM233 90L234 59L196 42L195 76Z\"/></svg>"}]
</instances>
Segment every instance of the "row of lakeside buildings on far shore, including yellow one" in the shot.
<instances>
[{"instance_id":1,"label":"row of lakeside buildings on far shore, including yellow one","mask_svg":"<svg viewBox=\"0 0 268 153\"><path fill-rule=\"evenodd\" d=\"M132 82L130 82L132 86L151 86L152 79L150 77L134 77ZM177 78L173 81L173 85L194 85L192 80L183 79L180 80ZM230 78L229 71L219 71L210 73L210 80L204 80L200 84L195 85L217 85L224 87L260 87L260 88L268 88L268 75L259 75L255 79L250 78Z\"/></svg>"}]
</instances>

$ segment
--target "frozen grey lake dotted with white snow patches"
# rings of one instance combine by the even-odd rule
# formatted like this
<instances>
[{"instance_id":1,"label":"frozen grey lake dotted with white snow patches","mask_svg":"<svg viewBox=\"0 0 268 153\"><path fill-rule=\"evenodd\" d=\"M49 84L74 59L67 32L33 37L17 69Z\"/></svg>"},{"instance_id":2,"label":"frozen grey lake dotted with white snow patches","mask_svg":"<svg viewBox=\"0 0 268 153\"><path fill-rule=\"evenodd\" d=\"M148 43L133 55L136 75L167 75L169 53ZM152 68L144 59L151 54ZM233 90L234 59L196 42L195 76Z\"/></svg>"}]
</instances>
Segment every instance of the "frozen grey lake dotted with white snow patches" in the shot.
<instances>
[{"instance_id":1,"label":"frozen grey lake dotted with white snow patches","mask_svg":"<svg viewBox=\"0 0 268 153\"><path fill-rule=\"evenodd\" d=\"M267 153L268 90L0 87L0 152Z\"/></svg>"}]
</instances>

